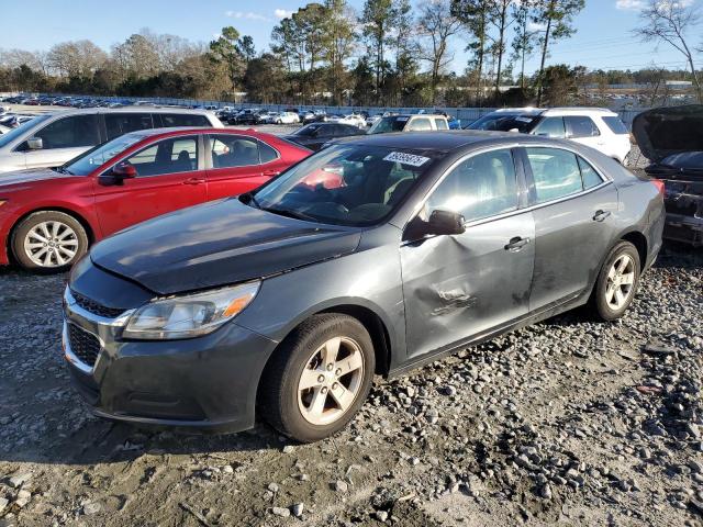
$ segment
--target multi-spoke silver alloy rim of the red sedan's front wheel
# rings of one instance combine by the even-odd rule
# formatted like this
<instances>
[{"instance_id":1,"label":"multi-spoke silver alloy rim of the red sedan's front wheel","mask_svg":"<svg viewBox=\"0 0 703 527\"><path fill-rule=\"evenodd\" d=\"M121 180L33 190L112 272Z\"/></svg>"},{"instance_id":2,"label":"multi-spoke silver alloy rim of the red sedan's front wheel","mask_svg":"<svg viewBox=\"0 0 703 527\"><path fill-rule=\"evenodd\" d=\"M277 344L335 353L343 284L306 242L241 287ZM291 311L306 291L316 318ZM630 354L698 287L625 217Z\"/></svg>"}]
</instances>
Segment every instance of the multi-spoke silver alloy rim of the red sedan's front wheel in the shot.
<instances>
[{"instance_id":1,"label":"multi-spoke silver alloy rim of the red sedan's front wheel","mask_svg":"<svg viewBox=\"0 0 703 527\"><path fill-rule=\"evenodd\" d=\"M40 267L62 267L70 264L78 251L78 236L65 223L42 222L24 237L24 253Z\"/></svg>"}]
</instances>

